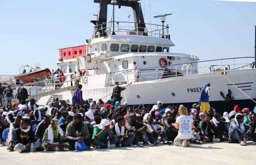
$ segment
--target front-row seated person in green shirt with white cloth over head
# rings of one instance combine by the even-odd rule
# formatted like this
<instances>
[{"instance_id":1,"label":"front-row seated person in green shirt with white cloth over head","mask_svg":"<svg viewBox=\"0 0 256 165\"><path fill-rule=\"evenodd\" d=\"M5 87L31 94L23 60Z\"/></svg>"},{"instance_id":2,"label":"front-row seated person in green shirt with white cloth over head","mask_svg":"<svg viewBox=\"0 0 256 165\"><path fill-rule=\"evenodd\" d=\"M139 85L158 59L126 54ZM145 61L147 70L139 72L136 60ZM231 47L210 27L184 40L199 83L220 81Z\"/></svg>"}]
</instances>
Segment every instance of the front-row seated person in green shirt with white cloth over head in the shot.
<instances>
[{"instance_id":1,"label":"front-row seated person in green shirt with white cloth over head","mask_svg":"<svg viewBox=\"0 0 256 165\"><path fill-rule=\"evenodd\" d=\"M94 118L96 125L94 126L93 132L93 145L95 148L107 148L108 139L110 141L110 148L115 148L118 143L118 137L112 135L109 128L110 121L108 119L102 119L99 116ZM118 144L121 147L121 144Z\"/></svg>"}]
</instances>

